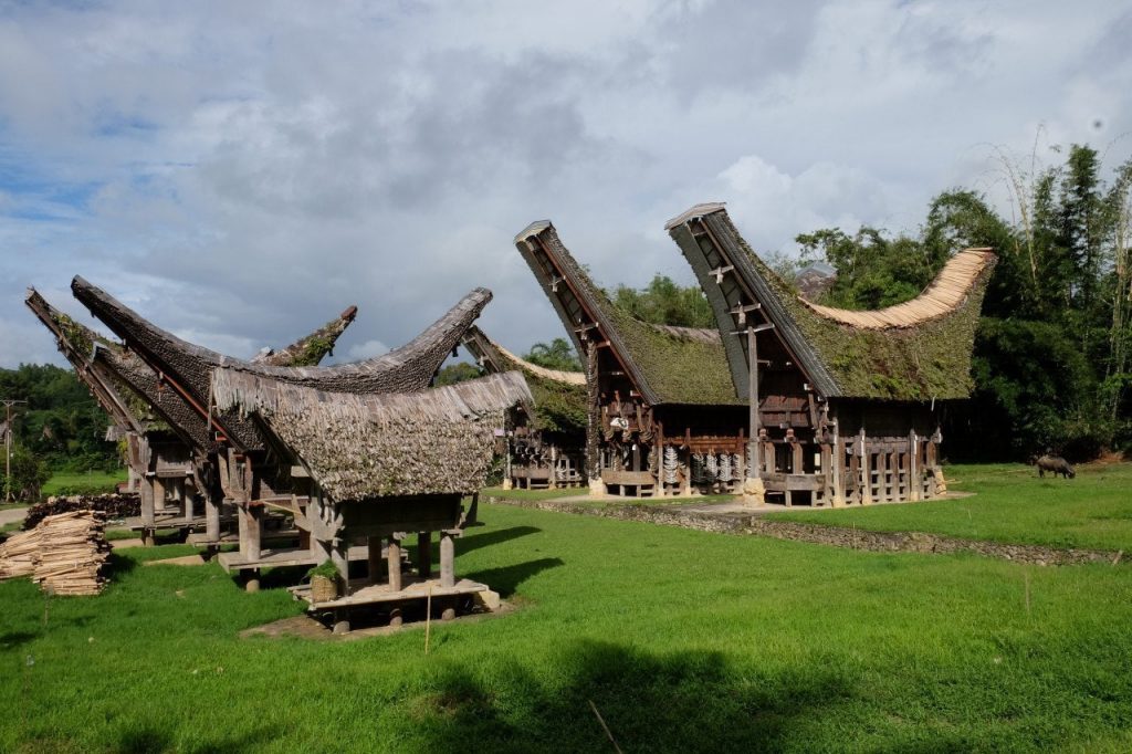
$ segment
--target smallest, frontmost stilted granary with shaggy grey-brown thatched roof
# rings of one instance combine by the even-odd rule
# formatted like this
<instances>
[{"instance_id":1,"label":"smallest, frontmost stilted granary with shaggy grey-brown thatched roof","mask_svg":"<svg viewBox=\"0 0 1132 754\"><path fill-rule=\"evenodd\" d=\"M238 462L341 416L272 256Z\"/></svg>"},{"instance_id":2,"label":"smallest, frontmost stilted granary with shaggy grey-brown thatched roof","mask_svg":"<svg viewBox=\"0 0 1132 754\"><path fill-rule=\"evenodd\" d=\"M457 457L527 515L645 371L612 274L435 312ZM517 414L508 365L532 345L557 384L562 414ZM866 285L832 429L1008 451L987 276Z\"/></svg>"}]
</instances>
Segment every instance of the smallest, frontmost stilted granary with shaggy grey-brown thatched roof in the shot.
<instances>
[{"instance_id":1,"label":"smallest, frontmost stilted granary with shaggy grey-brown thatched roof","mask_svg":"<svg viewBox=\"0 0 1132 754\"><path fill-rule=\"evenodd\" d=\"M340 611L335 631L349 631L344 610L351 606L427 599L451 618L456 598L488 591L456 581L453 538L462 531L461 498L484 483L505 412L531 401L521 375L369 395L325 393L237 369L214 370L212 384L216 406L250 415L275 463L293 465L294 494L310 500L295 515L309 522L314 560L332 560L340 577L337 594L297 593L312 609ZM402 541L411 532L418 533L415 579L402 573ZM438 580L431 579L432 532L440 535ZM349 580L352 545L367 547L363 583ZM391 618L400 623L400 608Z\"/></svg>"}]
</instances>

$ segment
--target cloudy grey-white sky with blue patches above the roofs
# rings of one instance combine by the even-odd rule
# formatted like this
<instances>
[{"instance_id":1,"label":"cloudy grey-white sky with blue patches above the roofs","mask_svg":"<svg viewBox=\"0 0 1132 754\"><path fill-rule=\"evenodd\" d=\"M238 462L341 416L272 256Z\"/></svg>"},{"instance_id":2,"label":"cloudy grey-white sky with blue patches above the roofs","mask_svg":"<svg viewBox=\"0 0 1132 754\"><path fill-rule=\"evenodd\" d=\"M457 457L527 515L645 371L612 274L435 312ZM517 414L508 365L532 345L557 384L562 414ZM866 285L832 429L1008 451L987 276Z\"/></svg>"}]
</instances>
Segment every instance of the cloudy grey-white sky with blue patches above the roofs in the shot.
<instances>
[{"instance_id":1,"label":"cloudy grey-white sky with blue patches above the roofs","mask_svg":"<svg viewBox=\"0 0 1132 754\"><path fill-rule=\"evenodd\" d=\"M1132 154L1125 2L0 0L0 366L55 361L28 285L80 274L250 355L359 317L336 357L490 288L561 335L512 246L551 219L599 282L691 282L663 233L724 200L757 250L915 231L996 148Z\"/></svg>"}]
</instances>

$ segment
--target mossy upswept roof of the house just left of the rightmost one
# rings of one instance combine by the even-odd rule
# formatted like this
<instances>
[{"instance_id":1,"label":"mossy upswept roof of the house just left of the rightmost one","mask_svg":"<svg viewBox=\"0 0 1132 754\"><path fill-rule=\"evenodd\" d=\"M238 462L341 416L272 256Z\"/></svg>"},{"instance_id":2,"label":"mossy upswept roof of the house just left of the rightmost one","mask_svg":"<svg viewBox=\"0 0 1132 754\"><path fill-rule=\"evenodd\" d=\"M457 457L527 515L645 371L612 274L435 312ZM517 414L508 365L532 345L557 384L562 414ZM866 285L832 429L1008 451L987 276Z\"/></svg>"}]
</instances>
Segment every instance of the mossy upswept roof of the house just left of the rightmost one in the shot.
<instances>
[{"instance_id":1,"label":"mossy upswept roof of the house just left of the rightmost one","mask_svg":"<svg viewBox=\"0 0 1132 754\"><path fill-rule=\"evenodd\" d=\"M550 221L532 223L515 246L546 290L566 332L584 353L581 332L595 326L626 376L652 404L739 404L718 334L641 322L609 300L566 250Z\"/></svg>"}]
</instances>

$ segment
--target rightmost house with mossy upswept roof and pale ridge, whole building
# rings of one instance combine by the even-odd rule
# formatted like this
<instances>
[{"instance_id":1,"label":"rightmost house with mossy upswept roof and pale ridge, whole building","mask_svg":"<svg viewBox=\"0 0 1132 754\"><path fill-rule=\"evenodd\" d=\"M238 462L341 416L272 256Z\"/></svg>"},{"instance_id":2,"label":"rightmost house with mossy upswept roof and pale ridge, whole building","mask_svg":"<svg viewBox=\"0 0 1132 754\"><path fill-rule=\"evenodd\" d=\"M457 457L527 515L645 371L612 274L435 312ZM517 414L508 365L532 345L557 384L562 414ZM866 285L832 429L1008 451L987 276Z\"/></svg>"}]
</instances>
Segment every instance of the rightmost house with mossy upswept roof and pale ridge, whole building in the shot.
<instances>
[{"instance_id":1,"label":"rightmost house with mossy upswept roof and pale ridge, whole building","mask_svg":"<svg viewBox=\"0 0 1132 754\"><path fill-rule=\"evenodd\" d=\"M874 311L797 295L721 204L667 224L711 302L736 393L749 405L747 491L816 505L938 495L938 413L967 399L995 256L955 254L916 299Z\"/></svg>"}]
</instances>

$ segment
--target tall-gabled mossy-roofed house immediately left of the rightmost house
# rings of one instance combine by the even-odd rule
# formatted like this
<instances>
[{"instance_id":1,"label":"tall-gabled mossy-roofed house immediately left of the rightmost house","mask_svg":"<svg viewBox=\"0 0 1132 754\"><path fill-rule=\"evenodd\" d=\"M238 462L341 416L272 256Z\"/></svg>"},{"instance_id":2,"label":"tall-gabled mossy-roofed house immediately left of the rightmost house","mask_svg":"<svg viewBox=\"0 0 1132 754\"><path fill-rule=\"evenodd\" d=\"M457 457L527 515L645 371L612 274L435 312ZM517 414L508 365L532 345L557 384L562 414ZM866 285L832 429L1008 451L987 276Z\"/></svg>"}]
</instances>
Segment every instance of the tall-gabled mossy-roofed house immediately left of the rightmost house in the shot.
<instances>
[{"instance_id":1,"label":"tall-gabled mossy-roofed house immediately left of the rightmost house","mask_svg":"<svg viewBox=\"0 0 1132 754\"><path fill-rule=\"evenodd\" d=\"M528 226L515 246L582 354L591 490L651 496L741 483L746 401L719 333L652 325L620 310L549 221Z\"/></svg>"}]
</instances>

